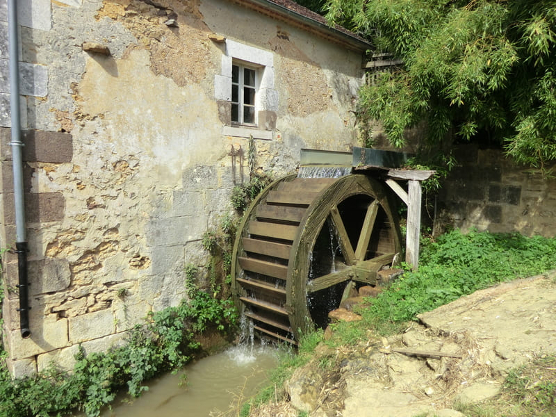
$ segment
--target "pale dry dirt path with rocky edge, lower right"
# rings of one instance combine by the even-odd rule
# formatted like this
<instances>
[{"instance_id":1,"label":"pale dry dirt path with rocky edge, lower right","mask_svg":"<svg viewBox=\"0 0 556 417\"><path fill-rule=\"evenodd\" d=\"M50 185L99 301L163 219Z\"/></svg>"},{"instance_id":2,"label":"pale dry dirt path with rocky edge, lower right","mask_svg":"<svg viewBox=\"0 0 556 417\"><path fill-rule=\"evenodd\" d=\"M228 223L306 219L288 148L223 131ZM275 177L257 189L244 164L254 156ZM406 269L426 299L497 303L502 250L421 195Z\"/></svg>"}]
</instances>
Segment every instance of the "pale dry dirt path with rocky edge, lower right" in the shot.
<instances>
[{"instance_id":1,"label":"pale dry dirt path with rocky edge, lower right","mask_svg":"<svg viewBox=\"0 0 556 417\"><path fill-rule=\"evenodd\" d=\"M378 342L319 347L286 384L290 402L252 415L297 416L295 407L311 417L463 416L455 402L491 398L509 369L556 353L556 271L477 291L419 318ZM336 365L327 367L327 359Z\"/></svg>"}]
</instances>

